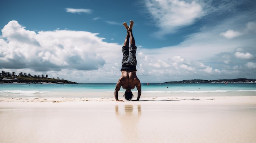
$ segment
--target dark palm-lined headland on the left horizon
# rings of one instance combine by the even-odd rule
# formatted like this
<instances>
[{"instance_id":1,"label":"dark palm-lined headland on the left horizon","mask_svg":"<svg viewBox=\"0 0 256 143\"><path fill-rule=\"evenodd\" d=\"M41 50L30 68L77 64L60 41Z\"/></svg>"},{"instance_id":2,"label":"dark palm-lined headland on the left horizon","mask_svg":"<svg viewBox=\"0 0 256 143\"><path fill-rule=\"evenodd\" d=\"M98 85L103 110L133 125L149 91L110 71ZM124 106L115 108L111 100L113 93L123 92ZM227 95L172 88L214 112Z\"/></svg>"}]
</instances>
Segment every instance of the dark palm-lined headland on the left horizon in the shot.
<instances>
[{"instance_id":1,"label":"dark palm-lined headland on the left horizon","mask_svg":"<svg viewBox=\"0 0 256 143\"><path fill-rule=\"evenodd\" d=\"M18 75L15 72L5 72L2 70L0 73L0 83L29 83L29 84L37 84L37 83L55 83L55 84L77 84L73 81L68 81L57 78L49 78L48 75L31 75L30 73L19 73Z\"/></svg>"}]
</instances>

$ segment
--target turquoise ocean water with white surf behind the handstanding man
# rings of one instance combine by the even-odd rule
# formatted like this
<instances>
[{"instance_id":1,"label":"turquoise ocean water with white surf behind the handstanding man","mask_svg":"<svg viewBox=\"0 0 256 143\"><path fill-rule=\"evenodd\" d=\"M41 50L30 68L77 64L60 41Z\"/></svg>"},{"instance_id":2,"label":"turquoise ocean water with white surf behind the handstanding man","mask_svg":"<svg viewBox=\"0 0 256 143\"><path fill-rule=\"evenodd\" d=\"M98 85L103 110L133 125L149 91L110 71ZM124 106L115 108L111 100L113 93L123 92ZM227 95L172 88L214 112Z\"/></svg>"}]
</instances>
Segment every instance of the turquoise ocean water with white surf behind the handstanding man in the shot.
<instances>
[{"instance_id":1,"label":"turquoise ocean water with white surf behind the handstanding man","mask_svg":"<svg viewBox=\"0 0 256 143\"><path fill-rule=\"evenodd\" d=\"M0 97L114 97L116 84L0 84ZM256 96L256 83L142 84L141 97ZM119 91L119 97L124 94ZM132 90L137 97L137 89Z\"/></svg>"}]
</instances>

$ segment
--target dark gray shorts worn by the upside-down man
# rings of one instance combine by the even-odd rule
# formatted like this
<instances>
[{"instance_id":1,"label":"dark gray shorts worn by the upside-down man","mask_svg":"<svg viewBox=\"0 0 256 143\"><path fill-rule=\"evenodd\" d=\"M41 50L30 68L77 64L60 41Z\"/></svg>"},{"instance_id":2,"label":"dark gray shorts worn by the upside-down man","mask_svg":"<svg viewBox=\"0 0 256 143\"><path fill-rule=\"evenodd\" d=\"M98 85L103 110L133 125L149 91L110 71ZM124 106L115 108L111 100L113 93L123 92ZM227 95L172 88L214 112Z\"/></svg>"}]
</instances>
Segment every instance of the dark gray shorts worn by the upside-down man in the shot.
<instances>
[{"instance_id":1,"label":"dark gray shorts worn by the upside-down man","mask_svg":"<svg viewBox=\"0 0 256 143\"><path fill-rule=\"evenodd\" d=\"M122 52L123 52L123 59L122 59L122 68L121 70L132 70L137 71L137 60L136 60L136 51L137 47L135 44L131 44L129 46L123 46Z\"/></svg>"}]
</instances>

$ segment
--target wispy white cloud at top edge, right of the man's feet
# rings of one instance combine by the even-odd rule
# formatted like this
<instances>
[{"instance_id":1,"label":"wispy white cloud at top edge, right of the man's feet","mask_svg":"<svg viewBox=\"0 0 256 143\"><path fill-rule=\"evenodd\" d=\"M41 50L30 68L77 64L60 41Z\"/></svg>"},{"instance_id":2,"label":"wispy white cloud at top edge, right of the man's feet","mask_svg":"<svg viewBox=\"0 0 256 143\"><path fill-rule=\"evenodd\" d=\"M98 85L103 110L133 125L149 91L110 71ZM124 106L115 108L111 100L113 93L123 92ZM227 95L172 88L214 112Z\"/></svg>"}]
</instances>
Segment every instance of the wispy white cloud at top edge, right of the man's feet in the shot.
<instances>
[{"instance_id":1,"label":"wispy white cloud at top edge, right of the man's feet","mask_svg":"<svg viewBox=\"0 0 256 143\"><path fill-rule=\"evenodd\" d=\"M146 0L146 8L162 33L170 33L193 24L204 15L202 7L195 1L184 0Z\"/></svg>"}]
</instances>

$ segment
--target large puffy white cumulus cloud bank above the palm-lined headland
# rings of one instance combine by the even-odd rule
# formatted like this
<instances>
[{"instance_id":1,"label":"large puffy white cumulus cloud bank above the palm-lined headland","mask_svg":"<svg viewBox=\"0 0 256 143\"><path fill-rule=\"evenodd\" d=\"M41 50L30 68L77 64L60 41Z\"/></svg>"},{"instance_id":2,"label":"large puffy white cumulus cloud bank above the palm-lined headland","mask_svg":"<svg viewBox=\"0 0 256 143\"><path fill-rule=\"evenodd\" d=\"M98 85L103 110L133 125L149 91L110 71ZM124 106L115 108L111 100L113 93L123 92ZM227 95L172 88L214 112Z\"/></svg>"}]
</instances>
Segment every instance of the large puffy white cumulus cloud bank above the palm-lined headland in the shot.
<instances>
[{"instance_id":1,"label":"large puffy white cumulus cloud bank above the palm-lined headland","mask_svg":"<svg viewBox=\"0 0 256 143\"><path fill-rule=\"evenodd\" d=\"M7 40L0 39L0 68L35 71L97 70L106 64L110 52L107 47L119 47L103 42L97 33L67 30L35 33L17 21L4 26L2 37Z\"/></svg>"}]
</instances>

